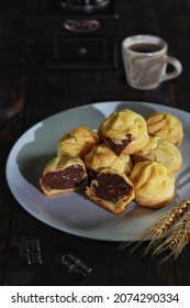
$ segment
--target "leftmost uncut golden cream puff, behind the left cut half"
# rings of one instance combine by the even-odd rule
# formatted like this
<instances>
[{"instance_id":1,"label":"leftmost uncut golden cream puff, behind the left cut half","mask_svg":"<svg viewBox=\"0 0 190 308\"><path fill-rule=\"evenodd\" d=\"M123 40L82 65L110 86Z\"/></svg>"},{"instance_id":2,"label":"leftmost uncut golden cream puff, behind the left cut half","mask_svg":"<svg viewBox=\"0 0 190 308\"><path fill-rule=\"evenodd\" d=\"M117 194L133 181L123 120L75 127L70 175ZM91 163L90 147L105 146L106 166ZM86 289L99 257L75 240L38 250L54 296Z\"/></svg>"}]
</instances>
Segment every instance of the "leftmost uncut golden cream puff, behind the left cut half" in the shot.
<instances>
[{"instance_id":1,"label":"leftmost uncut golden cream puff, behind the left cut half","mask_svg":"<svg viewBox=\"0 0 190 308\"><path fill-rule=\"evenodd\" d=\"M99 144L99 135L91 129L78 127L58 141L57 155L67 153L83 158L92 146Z\"/></svg>"}]
</instances>

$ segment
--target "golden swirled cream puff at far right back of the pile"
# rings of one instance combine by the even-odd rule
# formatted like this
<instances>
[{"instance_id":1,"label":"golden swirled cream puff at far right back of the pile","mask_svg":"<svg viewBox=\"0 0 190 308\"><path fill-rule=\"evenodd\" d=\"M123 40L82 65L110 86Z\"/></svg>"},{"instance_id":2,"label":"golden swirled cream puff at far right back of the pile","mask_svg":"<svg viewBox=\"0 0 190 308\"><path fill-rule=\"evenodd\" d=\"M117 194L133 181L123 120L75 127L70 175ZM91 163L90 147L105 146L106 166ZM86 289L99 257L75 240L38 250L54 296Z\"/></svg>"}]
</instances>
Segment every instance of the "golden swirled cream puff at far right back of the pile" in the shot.
<instances>
[{"instance_id":1,"label":"golden swirled cream puff at far right back of the pile","mask_svg":"<svg viewBox=\"0 0 190 308\"><path fill-rule=\"evenodd\" d=\"M177 147L181 145L183 130L180 120L167 112L156 112L147 119L149 135L157 135L174 143Z\"/></svg>"}]
</instances>

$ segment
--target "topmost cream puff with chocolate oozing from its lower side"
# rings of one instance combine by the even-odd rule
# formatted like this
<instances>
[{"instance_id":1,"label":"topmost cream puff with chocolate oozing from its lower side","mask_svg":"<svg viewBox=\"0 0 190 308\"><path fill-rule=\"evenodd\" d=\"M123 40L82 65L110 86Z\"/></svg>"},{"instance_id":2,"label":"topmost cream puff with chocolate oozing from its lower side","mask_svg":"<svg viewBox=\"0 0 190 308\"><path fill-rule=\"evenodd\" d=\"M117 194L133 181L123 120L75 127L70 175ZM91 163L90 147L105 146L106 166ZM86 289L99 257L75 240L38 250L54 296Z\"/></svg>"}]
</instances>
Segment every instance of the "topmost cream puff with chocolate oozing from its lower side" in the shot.
<instances>
[{"instance_id":1,"label":"topmost cream puff with chocolate oozing from its lower side","mask_svg":"<svg viewBox=\"0 0 190 308\"><path fill-rule=\"evenodd\" d=\"M116 155L133 154L149 140L145 119L130 109L110 114L100 124L99 135Z\"/></svg>"}]
</instances>

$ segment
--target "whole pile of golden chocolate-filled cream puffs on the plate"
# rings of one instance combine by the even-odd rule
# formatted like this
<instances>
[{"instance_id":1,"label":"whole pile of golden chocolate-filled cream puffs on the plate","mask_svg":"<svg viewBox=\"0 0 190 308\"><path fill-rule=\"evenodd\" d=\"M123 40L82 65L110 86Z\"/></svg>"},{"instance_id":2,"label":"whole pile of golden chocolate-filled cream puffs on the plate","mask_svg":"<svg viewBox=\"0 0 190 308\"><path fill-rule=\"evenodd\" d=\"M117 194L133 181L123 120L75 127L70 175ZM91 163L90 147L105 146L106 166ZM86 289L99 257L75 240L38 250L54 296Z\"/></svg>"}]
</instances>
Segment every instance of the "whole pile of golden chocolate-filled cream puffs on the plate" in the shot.
<instances>
[{"instance_id":1,"label":"whole pile of golden chocolate-filled cream puffs on the plate","mask_svg":"<svg viewBox=\"0 0 190 308\"><path fill-rule=\"evenodd\" d=\"M41 188L46 196L83 190L112 213L123 212L132 200L165 207L175 197L182 139L182 124L170 113L145 119L130 109L113 112L98 132L79 127L57 142L57 156L45 166Z\"/></svg>"}]
</instances>

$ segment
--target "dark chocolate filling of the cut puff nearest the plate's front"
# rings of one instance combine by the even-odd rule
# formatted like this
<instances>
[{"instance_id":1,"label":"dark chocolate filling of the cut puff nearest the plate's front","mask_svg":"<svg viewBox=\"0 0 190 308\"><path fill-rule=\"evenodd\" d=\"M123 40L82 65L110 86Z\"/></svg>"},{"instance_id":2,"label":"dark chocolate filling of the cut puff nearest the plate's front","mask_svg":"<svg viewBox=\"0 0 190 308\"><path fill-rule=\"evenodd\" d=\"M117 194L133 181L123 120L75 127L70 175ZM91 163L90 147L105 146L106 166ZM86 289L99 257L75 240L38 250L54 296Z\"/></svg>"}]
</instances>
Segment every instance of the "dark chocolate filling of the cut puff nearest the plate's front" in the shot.
<instances>
[{"instance_id":1,"label":"dark chocolate filling of the cut puff nearest the plate's front","mask_svg":"<svg viewBox=\"0 0 190 308\"><path fill-rule=\"evenodd\" d=\"M132 187L116 174L99 174L97 176L98 186L93 185L97 197L118 202L120 197L127 196Z\"/></svg>"}]
</instances>

